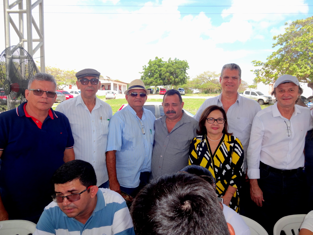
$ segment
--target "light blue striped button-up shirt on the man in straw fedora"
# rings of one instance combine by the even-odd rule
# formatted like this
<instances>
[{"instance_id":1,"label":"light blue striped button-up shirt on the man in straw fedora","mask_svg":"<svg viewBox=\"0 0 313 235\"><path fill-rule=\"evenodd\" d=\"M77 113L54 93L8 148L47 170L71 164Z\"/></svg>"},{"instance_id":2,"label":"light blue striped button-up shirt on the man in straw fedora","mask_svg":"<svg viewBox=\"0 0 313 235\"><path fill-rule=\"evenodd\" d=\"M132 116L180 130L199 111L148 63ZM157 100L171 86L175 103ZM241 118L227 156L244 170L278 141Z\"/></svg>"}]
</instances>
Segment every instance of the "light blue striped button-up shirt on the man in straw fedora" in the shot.
<instances>
[{"instance_id":1,"label":"light blue striped button-up shirt on the man in straw fedora","mask_svg":"<svg viewBox=\"0 0 313 235\"><path fill-rule=\"evenodd\" d=\"M143 108L140 119L130 105L110 121L106 151L116 150L116 175L123 187L138 187L140 172L151 171L154 121L151 111Z\"/></svg>"}]
</instances>

